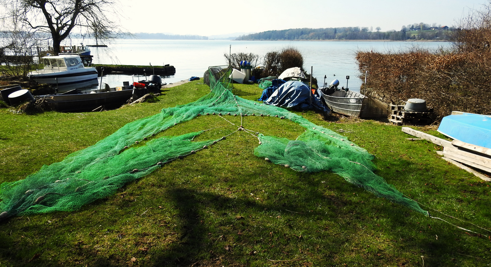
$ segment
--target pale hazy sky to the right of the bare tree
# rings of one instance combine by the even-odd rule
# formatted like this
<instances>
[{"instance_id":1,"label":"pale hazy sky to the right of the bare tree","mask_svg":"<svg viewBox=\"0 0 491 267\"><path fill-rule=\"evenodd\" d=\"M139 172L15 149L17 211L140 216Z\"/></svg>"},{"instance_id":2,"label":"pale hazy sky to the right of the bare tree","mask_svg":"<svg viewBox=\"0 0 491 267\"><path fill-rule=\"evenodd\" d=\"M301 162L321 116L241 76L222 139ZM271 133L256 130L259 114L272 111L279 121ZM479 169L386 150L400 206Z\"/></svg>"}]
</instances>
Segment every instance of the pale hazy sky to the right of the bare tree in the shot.
<instances>
[{"instance_id":1,"label":"pale hazy sky to the right of the bare tree","mask_svg":"<svg viewBox=\"0 0 491 267\"><path fill-rule=\"evenodd\" d=\"M289 28L457 25L488 0L121 0L131 32L217 35Z\"/></svg>"}]
</instances>

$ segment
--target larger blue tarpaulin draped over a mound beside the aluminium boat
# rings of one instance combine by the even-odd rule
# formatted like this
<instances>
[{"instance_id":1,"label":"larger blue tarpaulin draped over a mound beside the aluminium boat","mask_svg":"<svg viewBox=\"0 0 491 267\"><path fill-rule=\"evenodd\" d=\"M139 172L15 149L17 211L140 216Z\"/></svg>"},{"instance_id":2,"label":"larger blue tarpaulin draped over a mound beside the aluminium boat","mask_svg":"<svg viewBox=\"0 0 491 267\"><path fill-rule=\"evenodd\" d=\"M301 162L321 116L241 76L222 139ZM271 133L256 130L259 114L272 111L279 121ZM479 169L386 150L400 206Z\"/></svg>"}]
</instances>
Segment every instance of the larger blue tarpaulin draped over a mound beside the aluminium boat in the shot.
<instances>
[{"instance_id":1,"label":"larger blue tarpaulin draped over a mound beside the aluminium boat","mask_svg":"<svg viewBox=\"0 0 491 267\"><path fill-rule=\"evenodd\" d=\"M294 107L300 110L314 109L327 114L330 113L330 109L314 95L312 95L312 105L310 105L310 88L300 81L283 83L264 103L278 107Z\"/></svg>"}]
</instances>

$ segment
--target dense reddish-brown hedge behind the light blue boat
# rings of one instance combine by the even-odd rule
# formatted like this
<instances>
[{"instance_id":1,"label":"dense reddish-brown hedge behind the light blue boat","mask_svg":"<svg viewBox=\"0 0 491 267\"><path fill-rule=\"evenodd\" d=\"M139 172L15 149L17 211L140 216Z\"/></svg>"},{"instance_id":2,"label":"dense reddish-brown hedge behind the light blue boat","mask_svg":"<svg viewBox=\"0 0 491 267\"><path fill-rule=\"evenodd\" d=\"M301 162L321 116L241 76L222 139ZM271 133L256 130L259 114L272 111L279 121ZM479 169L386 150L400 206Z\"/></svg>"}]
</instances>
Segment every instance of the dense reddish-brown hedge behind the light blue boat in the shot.
<instances>
[{"instance_id":1,"label":"dense reddish-brown hedge behind the light blue boat","mask_svg":"<svg viewBox=\"0 0 491 267\"><path fill-rule=\"evenodd\" d=\"M392 103L425 99L439 118L454 110L491 114L490 22L491 3L461 22L452 51L358 51L359 70L369 73L367 88Z\"/></svg>"}]
</instances>

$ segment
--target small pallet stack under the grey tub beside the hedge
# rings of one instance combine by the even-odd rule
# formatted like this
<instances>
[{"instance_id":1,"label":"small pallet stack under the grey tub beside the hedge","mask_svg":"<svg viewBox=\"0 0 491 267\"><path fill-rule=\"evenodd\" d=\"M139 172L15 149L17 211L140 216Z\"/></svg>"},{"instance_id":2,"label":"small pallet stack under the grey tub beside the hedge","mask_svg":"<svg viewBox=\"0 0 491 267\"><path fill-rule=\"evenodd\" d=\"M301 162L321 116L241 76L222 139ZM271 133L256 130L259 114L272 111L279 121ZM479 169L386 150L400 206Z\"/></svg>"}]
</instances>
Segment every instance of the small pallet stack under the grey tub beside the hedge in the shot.
<instances>
[{"instance_id":1,"label":"small pallet stack under the grey tub beside the hedge","mask_svg":"<svg viewBox=\"0 0 491 267\"><path fill-rule=\"evenodd\" d=\"M433 108L427 108L426 112L414 112L404 110L404 105L390 105L392 115L390 115L389 121L392 124L414 124L414 125L428 125L435 121Z\"/></svg>"}]
</instances>

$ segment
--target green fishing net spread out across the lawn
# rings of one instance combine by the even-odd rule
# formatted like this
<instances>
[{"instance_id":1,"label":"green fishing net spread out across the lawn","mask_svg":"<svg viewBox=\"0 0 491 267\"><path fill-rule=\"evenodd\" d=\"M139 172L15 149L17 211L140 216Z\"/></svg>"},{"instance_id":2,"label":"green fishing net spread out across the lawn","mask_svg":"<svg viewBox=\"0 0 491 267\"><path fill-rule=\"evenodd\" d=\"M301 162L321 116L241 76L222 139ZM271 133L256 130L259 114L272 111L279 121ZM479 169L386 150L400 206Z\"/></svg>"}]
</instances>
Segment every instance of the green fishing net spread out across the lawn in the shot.
<instances>
[{"instance_id":1,"label":"green fishing net spread out across the lawn","mask_svg":"<svg viewBox=\"0 0 491 267\"><path fill-rule=\"evenodd\" d=\"M79 210L84 204L114 194L125 183L151 173L165 162L216 144L224 138L193 141L203 131L151 139L180 122L214 113L274 116L296 122L306 129L297 140L259 135L260 145L254 154L297 171L335 172L379 197L428 215L415 201L404 197L373 173L373 155L365 149L283 108L234 96L228 78L230 73L230 68L210 71L211 92L195 102L164 108L159 114L130 122L61 162L45 165L23 180L2 183L0 218ZM151 140L144 146L135 146L148 138Z\"/></svg>"}]
</instances>

